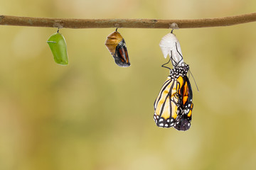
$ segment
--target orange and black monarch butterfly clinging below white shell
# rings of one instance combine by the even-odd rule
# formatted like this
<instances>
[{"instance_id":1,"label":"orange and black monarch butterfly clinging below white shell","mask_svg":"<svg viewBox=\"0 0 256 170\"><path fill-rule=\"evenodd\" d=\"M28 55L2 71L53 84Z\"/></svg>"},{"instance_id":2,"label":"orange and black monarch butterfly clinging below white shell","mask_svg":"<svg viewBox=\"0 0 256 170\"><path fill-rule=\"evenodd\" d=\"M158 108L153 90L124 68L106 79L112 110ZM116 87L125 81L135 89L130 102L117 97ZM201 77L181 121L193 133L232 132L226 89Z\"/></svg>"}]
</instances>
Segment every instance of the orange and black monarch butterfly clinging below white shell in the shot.
<instances>
[{"instance_id":1,"label":"orange and black monarch butterfly clinging below white shell","mask_svg":"<svg viewBox=\"0 0 256 170\"><path fill-rule=\"evenodd\" d=\"M174 69L165 66L170 60ZM154 121L161 128L174 127L185 131L191 127L193 110L192 88L186 76L189 66L185 62L175 61L172 56L170 60L162 65L170 70L170 75L154 102Z\"/></svg>"}]
</instances>

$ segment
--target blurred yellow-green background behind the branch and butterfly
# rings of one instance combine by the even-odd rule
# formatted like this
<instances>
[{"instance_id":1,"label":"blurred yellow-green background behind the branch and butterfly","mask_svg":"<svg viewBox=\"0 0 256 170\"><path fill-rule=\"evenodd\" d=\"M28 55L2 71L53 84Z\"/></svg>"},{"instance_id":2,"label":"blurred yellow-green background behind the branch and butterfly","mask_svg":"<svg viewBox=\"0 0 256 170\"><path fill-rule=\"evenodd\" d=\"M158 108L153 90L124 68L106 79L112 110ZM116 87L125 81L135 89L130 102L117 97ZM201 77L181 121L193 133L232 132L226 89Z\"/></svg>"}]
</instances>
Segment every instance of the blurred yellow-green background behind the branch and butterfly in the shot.
<instances>
[{"instance_id":1,"label":"blurred yellow-green background behind the branch and butterfly","mask_svg":"<svg viewBox=\"0 0 256 170\"><path fill-rule=\"evenodd\" d=\"M193 19L255 12L256 1L2 0L3 15ZM115 28L61 29L70 64L55 64L56 28L0 26L0 169L255 169L256 23L175 30L193 79L191 129L156 127L169 75L168 29L119 28L131 67L105 47Z\"/></svg>"}]
</instances>

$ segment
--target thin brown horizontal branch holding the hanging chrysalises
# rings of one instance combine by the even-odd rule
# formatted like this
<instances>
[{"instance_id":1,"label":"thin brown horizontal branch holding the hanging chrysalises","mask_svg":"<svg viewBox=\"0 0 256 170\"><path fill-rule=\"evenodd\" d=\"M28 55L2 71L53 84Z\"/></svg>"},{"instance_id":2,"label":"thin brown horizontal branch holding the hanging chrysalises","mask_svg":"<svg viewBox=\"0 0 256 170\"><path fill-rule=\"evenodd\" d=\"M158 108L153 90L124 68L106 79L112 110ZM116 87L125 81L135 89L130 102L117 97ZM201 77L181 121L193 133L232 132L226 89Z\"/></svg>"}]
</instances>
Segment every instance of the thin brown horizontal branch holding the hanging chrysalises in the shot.
<instances>
[{"instance_id":1,"label":"thin brown horizontal branch holding the hanging chrysalises","mask_svg":"<svg viewBox=\"0 0 256 170\"><path fill-rule=\"evenodd\" d=\"M202 18L191 20L158 19L72 19L72 18L33 18L21 16L0 16L0 25L33 26L53 28L203 28L233 26L256 21L256 13L222 18Z\"/></svg>"}]
</instances>

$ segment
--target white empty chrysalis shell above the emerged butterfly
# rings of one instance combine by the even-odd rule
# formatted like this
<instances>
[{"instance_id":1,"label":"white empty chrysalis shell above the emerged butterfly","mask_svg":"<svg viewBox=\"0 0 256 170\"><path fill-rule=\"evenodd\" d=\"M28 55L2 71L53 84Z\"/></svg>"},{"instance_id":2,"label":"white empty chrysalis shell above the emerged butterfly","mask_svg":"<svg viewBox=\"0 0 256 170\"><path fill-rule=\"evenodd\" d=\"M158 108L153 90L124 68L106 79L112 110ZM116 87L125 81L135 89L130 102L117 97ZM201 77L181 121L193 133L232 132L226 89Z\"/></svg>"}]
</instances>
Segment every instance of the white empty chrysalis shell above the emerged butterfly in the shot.
<instances>
[{"instance_id":1,"label":"white empty chrysalis shell above the emerged butterfly","mask_svg":"<svg viewBox=\"0 0 256 170\"><path fill-rule=\"evenodd\" d=\"M181 63L183 63L181 45L173 33L166 34L161 39L159 46L161 47L161 51L163 52L165 58L167 57L167 55L169 55L169 57L172 57L171 62L174 65L174 67L180 66Z\"/></svg>"}]
</instances>

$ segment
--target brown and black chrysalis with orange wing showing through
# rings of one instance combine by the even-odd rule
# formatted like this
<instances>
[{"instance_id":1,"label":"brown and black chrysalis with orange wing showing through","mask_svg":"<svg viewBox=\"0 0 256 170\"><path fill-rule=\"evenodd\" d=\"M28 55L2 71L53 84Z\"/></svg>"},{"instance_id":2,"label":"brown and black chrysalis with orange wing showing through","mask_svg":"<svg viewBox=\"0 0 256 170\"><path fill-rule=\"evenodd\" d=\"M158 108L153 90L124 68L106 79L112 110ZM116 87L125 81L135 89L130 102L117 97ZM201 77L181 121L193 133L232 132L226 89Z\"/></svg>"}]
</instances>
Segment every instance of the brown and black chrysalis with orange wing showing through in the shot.
<instances>
[{"instance_id":1,"label":"brown and black chrysalis with orange wing showing through","mask_svg":"<svg viewBox=\"0 0 256 170\"><path fill-rule=\"evenodd\" d=\"M129 67L131 65L129 63L127 46L124 38L122 38L122 35L118 33L117 30L107 36L105 45L107 50L109 50L110 54L114 57L114 62L119 67Z\"/></svg>"}]
</instances>

